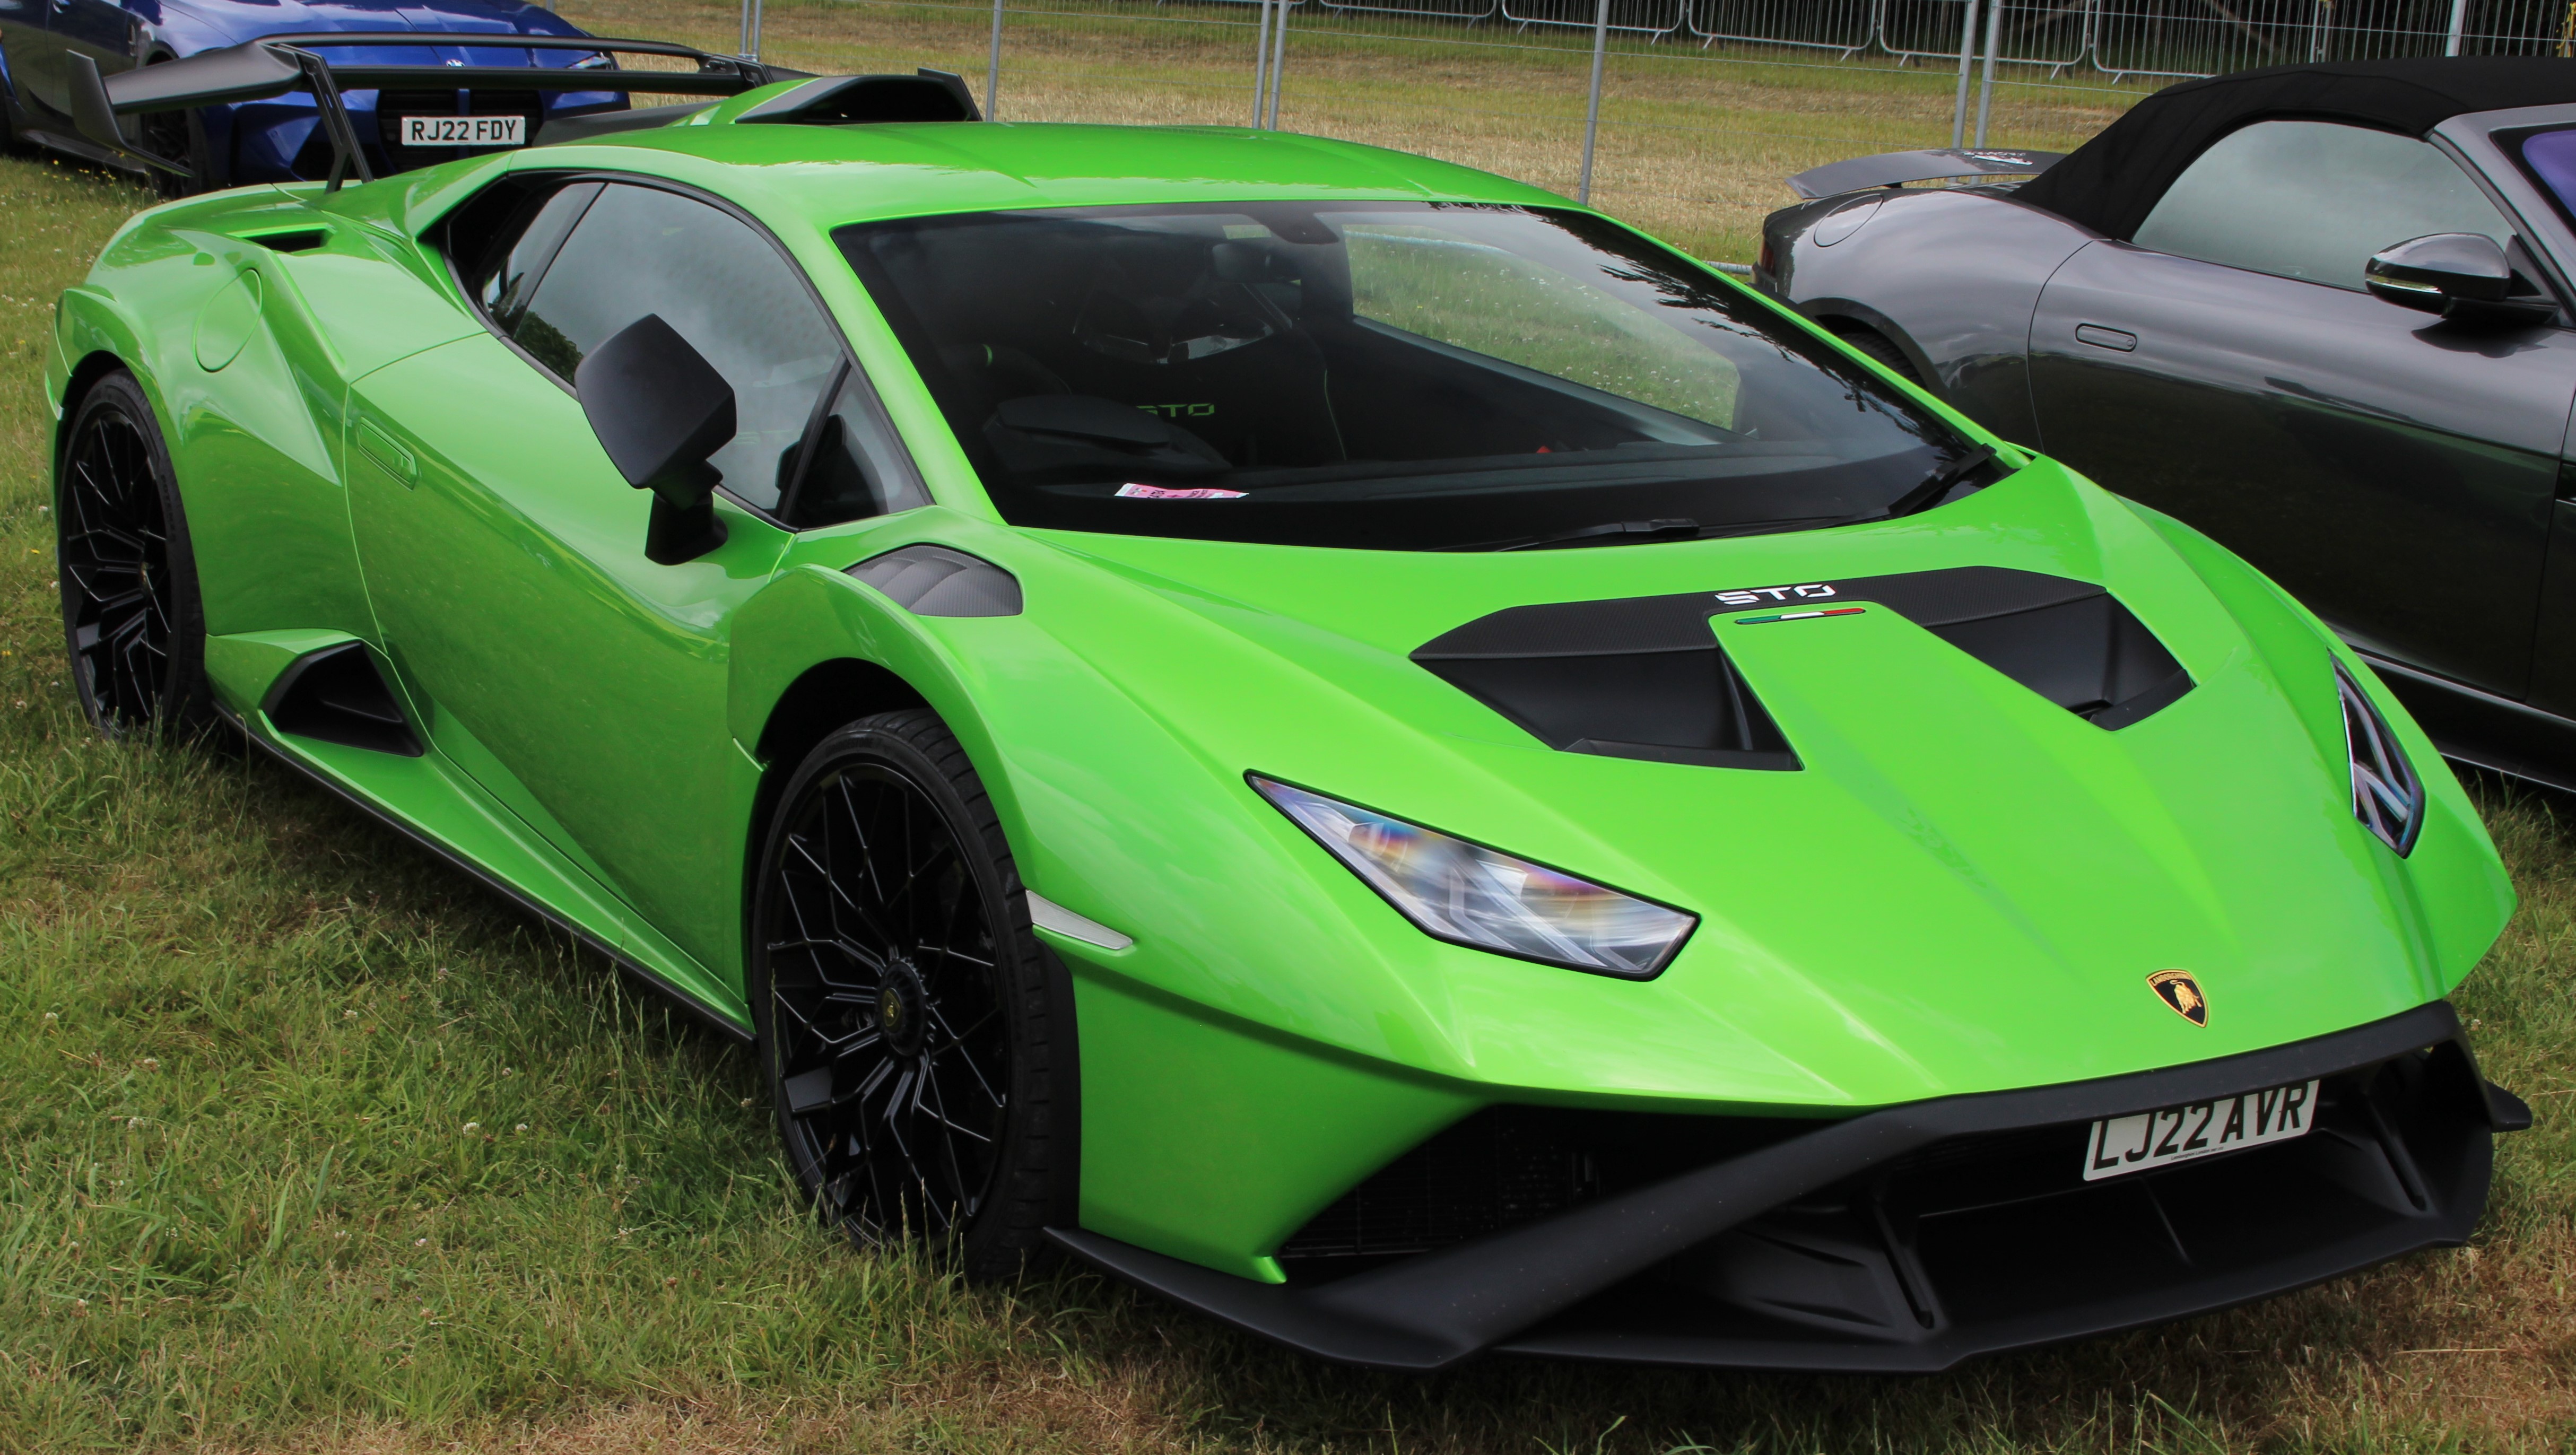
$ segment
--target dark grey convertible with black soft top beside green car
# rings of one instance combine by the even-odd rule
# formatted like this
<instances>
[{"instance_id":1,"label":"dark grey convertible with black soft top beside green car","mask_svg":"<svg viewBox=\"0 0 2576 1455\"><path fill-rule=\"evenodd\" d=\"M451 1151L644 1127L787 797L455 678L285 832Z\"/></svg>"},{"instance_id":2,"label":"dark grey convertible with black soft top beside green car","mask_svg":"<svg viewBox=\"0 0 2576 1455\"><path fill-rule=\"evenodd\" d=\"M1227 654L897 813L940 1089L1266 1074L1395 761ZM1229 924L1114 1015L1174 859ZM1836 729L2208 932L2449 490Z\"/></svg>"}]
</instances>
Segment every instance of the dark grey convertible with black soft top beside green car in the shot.
<instances>
[{"instance_id":1,"label":"dark grey convertible with black soft top beside green car","mask_svg":"<svg viewBox=\"0 0 2576 1455\"><path fill-rule=\"evenodd\" d=\"M1904 185L1942 178L1984 180ZM1790 185L1759 288L2236 549L2452 757L2576 788L2576 64L2236 72L2063 160Z\"/></svg>"}]
</instances>

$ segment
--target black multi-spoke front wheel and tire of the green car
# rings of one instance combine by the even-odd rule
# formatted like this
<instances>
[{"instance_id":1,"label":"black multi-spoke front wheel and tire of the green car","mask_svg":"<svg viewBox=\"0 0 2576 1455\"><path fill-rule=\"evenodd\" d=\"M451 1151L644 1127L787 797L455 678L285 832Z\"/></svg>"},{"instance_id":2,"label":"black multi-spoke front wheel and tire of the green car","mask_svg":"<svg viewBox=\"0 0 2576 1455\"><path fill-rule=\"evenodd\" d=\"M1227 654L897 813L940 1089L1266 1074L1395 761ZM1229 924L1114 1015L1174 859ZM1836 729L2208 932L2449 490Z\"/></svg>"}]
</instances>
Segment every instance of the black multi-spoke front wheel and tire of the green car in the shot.
<instances>
[{"instance_id":1,"label":"black multi-spoke front wheel and tire of the green car","mask_svg":"<svg viewBox=\"0 0 2576 1455\"><path fill-rule=\"evenodd\" d=\"M788 1164L827 1221L1010 1277L1069 1218L1069 997L935 713L850 724L788 780L750 994Z\"/></svg>"}]
</instances>

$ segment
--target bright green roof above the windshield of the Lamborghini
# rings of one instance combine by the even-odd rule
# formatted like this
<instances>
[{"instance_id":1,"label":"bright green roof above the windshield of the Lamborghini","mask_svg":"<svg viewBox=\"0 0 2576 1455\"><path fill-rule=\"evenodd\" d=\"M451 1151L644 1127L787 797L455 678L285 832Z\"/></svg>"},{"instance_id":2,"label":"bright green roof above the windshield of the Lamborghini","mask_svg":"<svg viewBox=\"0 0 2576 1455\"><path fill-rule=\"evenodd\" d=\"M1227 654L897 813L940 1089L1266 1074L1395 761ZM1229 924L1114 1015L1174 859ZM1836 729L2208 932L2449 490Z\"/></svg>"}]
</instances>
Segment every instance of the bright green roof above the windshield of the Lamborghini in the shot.
<instances>
[{"instance_id":1,"label":"bright green roof above the windshield of the Lamborghini","mask_svg":"<svg viewBox=\"0 0 2576 1455\"><path fill-rule=\"evenodd\" d=\"M1033 206L1224 201L1458 201L1566 206L1566 198L1406 152L1244 126L1087 126L1025 121L732 124L711 118L623 131L580 147L533 147L520 167L600 162L670 170L757 211L814 227ZM649 149L654 165L616 152ZM683 160L685 157L685 160ZM659 157L657 157L659 162ZM690 165L698 162L698 165ZM721 175L708 175L714 165ZM729 183L729 185L726 185Z\"/></svg>"}]
</instances>

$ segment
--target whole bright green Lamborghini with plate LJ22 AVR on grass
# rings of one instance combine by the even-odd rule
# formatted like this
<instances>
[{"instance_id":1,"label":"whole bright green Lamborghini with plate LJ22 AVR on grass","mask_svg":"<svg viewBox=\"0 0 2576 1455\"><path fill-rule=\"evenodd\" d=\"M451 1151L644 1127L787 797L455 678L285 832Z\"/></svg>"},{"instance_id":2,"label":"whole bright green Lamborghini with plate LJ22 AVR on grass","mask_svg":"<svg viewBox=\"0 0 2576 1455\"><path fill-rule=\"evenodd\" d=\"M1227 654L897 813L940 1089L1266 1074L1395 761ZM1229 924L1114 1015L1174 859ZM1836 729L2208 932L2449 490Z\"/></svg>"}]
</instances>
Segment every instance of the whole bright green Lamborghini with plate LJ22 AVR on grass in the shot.
<instances>
[{"instance_id":1,"label":"whole bright green Lamborghini with plate LJ22 AVR on grass","mask_svg":"<svg viewBox=\"0 0 2576 1455\"><path fill-rule=\"evenodd\" d=\"M1332 1360L1932 1370L2470 1236L2512 888L2236 556L1558 196L896 82L126 224L95 724L744 1038L853 1236Z\"/></svg>"}]
</instances>

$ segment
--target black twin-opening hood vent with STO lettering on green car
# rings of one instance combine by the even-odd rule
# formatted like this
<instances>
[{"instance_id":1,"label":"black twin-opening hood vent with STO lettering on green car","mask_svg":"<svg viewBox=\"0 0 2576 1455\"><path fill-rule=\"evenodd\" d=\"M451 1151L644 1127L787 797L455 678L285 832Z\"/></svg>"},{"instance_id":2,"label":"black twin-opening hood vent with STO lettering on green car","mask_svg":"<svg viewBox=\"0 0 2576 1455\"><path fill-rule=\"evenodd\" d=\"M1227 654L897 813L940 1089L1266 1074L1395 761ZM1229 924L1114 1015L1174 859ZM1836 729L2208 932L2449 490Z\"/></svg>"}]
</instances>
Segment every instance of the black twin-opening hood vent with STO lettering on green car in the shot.
<instances>
[{"instance_id":1,"label":"black twin-opening hood vent with STO lettering on green car","mask_svg":"<svg viewBox=\"0 0 2576 1455\"><path fill-rule=\"evenodd\" d=\"M1798 755L1708 623L1860 603L2099 729L2125 729L2192 690L2192 675L2120 597L2007 567L1515 605L1412 659L1561 752L1783 770Z\"/></svg>"}]
</instances>

